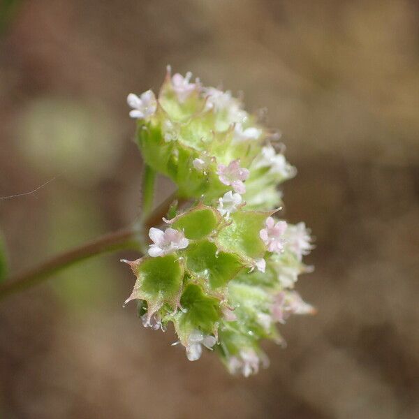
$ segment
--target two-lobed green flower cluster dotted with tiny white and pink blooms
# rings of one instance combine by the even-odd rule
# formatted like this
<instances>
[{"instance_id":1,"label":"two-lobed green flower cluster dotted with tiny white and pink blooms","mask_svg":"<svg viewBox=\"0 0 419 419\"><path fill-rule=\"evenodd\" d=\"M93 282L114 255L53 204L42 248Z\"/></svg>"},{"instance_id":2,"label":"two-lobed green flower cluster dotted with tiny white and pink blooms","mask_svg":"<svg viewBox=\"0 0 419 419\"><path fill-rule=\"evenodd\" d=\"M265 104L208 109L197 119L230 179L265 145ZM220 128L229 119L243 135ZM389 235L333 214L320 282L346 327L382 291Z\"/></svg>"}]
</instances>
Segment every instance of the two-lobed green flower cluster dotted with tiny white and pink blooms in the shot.
<instances>
[{"instance_id":1,"label":"two-lobed green flower cluster dotted with tiny white and pink blooms","mask_svg":"<svg viewBox=\"0 0 419 419\"><path fill-rule=\"evenodd\" d=\"M196 203L149 230L148 256L128 262L137 281L126 302L139 301L146 327L172 322L189 360L204 347L230 372L254 374L267 365L260 340L282 341L275 323L314 311L293 290L309 271L309 231L273 216L295 168L230 91L191 73L169 68L158 98L149 90L127 101L145 164Z\"/></svg>"}]
</instances>

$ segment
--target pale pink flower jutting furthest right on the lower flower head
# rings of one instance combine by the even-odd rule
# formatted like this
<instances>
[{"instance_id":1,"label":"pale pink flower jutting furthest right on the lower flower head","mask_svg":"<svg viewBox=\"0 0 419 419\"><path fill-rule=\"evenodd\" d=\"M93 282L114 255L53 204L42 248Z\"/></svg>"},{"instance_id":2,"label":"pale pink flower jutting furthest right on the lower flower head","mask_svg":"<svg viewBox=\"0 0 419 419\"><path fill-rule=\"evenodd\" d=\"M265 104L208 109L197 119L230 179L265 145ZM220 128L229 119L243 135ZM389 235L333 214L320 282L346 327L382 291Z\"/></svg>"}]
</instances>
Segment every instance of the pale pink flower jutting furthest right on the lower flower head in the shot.
<instances>
[{"instance_id":1,"label":"pale pink flower jutting furthest right on the lower flower head","mask_svg":"<svg viewBox=\"0 0 419 419\"><path fill-rule=\"evenodd\" d=\"M316 310L311 304L304 302L297 291L281 291L274 297L271 307L272 318L285 323L291 314L314 314Z\"/></svg>"}]
</instances>

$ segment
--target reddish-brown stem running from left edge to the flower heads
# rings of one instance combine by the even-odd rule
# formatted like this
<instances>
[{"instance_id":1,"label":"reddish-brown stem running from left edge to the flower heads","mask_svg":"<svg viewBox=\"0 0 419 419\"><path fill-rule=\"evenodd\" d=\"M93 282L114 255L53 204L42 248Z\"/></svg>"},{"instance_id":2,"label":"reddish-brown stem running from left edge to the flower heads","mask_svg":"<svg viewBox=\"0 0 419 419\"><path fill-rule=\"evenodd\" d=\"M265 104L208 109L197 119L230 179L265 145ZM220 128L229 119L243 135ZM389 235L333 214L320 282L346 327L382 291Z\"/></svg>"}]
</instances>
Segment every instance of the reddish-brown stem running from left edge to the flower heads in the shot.
<instances>
[{"instance_id":1,"label":"reddish-brown stem running from left edge to the flower heads","mask_svg":"<svg viewBox=\"0 0 419 419\"><path fill-rule=\"evenodd\" d=\"M176 194L170 196L154 212L145 220L144 228L147 231L150 227L161 223L161 218L166 215L170 204L175 200ZM10 277L6 282L0 285L0 300L8 295L23 291L31 286L45 281L53 274L62 270L64 267L73 265L74 263L100 255L110 251L118 251L124 249L140 249L140 241L142 240L140 228L129 227L117 230L113 233L105 234L96 240L82 244L74 249L59 253L50 260L32 267L29 270L18 273Z\"/></svg>"}]
</instances>

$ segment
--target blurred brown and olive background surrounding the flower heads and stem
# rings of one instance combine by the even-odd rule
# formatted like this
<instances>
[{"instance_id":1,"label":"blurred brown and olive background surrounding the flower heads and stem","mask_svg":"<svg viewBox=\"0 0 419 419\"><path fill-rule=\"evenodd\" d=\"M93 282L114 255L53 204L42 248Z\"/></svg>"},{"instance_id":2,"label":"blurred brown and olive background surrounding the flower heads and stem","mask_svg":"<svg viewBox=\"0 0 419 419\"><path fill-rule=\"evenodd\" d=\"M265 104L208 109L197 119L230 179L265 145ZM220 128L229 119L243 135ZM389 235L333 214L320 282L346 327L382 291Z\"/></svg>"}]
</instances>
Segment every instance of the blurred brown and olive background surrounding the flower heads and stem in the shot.
<instances>
[{"instance_id":1,"label":"blurred brown and olive background surrounding the flower heads and stem","mask_svg":"<svg viewBox=\"0 0 419 419\"><path fill-rule=\"evenodd\" d=\"M140 212L126 95L166 64L267 108L316 236L318 308L232 377L122 309L101 256L0 303L0 418L419 418L419 6L415 0L0 2L0 226L11 270ZM159 198L172 191L159 179Z\"/></svg>"}]
</instances>

